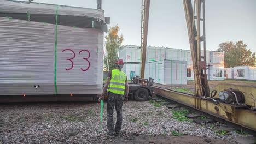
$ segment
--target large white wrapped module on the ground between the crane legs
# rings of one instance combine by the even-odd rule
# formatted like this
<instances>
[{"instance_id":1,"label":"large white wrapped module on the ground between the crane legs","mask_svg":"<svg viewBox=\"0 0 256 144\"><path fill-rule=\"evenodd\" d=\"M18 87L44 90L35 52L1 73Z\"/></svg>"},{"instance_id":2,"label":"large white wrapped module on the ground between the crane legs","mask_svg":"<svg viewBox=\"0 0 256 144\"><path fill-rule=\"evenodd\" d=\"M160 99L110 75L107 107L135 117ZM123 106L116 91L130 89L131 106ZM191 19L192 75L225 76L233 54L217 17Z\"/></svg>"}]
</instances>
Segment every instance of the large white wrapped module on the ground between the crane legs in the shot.
<instances>
[{"instance_id":1,"label":"large white wrapped module on the ground between the crane legs","mask_svg":"<svg viewBox=\"0 0 256 144\"><path fill-rule=\"evenodd\" d=\"M187 62L161 60L146 63L146 78L164 85L187 85Z\"/></svg>"}]
</instances>

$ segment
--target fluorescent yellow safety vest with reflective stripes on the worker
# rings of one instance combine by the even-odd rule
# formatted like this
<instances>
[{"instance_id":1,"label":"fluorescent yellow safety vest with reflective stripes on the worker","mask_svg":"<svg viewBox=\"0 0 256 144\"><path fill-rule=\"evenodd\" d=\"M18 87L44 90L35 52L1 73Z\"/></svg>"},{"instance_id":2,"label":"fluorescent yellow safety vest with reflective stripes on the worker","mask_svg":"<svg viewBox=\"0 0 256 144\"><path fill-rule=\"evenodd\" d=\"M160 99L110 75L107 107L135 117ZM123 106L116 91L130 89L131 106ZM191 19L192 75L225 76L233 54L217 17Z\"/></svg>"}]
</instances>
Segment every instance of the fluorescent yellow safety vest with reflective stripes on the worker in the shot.
<instances>
[{"instance_id":1,"label":"fluorescent yellow safety vest with reflective stripes on the worker","mask_svg":"<svg viewBox=\"0 0 256 144\"><path fill-rule=\"evenodd\" d=\"M125 80L126 74L119 69L113 69L111 80L108 85L108 92L112 92L115 94L125 94Z\"/></svg>"}]
</instances>

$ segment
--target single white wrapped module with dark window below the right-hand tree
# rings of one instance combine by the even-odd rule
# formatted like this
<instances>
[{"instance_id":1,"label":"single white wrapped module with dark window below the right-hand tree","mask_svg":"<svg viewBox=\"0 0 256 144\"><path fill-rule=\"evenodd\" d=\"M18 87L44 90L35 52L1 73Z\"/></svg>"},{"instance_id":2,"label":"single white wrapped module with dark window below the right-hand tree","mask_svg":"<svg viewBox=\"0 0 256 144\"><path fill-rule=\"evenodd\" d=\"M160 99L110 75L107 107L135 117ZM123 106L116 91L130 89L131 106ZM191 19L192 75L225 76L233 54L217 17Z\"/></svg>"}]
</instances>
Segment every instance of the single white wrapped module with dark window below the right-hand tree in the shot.
<instances>
[{"instance_id":1,"label":"single white wrapped module with dark window below the right-hand tree","mask_svg":"<svg viewBox=\"0 0 256 144\"><path fill-rule=\"evenodd\" d=\"M234 67L234 79L250 79L250 66Z\"/></svg>"}]
</instances>

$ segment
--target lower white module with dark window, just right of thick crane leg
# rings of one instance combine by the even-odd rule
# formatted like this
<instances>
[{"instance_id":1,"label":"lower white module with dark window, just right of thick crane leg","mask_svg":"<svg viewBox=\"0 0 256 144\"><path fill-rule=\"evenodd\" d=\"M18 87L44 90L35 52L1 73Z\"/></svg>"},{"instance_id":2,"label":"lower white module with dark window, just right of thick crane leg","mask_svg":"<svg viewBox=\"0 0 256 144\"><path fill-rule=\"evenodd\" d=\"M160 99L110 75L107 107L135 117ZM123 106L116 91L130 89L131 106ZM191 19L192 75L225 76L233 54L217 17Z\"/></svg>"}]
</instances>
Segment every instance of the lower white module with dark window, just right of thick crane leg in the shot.
<instances>
[{"instance_id":1,"label":"lower white module with dark window, just right of thick crane leg","mask_svg":"<svg viewBox=\"0 0 256 144\"><path fill-rule=\"evenodd\" d=\"M224 80L224 67L219 65L209 66L209 80L219 81Z\"/></svg>"}]
</instances>

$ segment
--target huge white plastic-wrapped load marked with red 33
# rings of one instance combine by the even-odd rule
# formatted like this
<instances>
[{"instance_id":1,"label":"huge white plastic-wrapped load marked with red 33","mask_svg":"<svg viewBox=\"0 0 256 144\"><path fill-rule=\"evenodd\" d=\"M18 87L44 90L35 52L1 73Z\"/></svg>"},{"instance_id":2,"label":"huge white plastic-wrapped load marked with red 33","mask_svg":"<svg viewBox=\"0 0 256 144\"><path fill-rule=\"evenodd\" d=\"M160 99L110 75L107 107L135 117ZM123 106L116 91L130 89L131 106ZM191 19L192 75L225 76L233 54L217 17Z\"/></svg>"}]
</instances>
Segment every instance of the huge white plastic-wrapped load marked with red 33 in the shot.
<instances>
[{"instance_id":1,"label":"huge white plastic-wrapped load marked with red 33","mask_svg":"<svg viewBox=\"0 0 256 144\"><path fill-rule=\"evenodd\" d=\"M0 95L101 93L103 10L0 5Z\"/></svg>"}]
</instances>

